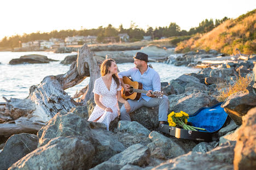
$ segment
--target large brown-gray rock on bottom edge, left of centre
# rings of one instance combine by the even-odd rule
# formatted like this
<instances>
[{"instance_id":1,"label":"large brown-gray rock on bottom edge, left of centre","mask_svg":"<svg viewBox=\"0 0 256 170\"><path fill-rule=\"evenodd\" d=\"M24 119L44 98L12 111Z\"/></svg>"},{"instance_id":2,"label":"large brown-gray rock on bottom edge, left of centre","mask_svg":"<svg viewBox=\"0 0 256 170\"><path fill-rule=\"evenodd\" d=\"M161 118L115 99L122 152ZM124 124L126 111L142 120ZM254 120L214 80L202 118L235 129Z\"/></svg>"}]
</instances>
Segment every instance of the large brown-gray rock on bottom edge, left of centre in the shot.
<instances>
[{"instance_id":1,"label":"large brown-gray rock on bottom edge, left of centre","mask_svg":"<svg viewBox=\"0 0 256 170\"><path fill-rule=\"evenodd\" d=\"M84 137L57 137L9 169L89 169L94 146Z\"/></svg>"}]
</instances>

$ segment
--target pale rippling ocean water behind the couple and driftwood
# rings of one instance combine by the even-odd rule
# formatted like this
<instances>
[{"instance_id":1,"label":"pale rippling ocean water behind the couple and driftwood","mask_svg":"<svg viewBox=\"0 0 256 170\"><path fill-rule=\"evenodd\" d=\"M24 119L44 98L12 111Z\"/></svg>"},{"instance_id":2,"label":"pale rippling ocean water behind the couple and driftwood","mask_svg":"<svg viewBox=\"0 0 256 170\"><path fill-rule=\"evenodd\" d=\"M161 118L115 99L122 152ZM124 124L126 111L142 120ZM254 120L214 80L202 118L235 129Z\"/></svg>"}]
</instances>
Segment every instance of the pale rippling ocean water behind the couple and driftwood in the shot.
<instances>
[{"instance_id":1,"label":"pale rippling ocean water behind the couple and driftwood","mask_svg":"<svg viewBox=\"0 0 256 170\"><path fill-rule=\"evenodd\" d=\"M10 65L9 61L13 58L20 58L26 54L40 54L48 58L59 60L46 64L18 64ZM5 102L2 98L24 99L29 95L31 86L39 84L45 76L65 74L69 70L69 65L60 64L68 55L74 53L53 53L53 52L0 52L0 102ZM198 72L201 69L188 68L187 66L175 66L165 63L149 63L158 71L161 82L170 82L185 73ZM118 64L120 71L133 68L133 63ZM86 78L77 86L68 88L65 91L73 96L75 92L82 89L89 83L90 77Z\"/></svg>"}]
</instances>

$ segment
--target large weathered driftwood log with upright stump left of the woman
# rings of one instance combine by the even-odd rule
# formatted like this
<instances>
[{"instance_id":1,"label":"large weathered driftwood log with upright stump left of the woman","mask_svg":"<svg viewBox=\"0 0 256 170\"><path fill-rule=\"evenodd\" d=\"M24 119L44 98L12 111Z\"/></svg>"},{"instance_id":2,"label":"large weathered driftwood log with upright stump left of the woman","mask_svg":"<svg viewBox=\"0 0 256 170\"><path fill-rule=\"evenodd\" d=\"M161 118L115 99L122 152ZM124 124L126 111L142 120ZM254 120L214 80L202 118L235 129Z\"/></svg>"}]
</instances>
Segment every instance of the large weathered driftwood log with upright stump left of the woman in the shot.
<instances>
[{"instance_id":1,"label":"large weathered driftwood log with upright stump left of the woman","mask_svg":"<svg viewBox=\"0 0 256 170\"><path fill-rule=\"evenodd\" d=\"M100 77L100 65L104 58L94 56L84 44L78 50L78 58L66 74L46 76L38 85L30 87L26 99L11 98L0 105L0 135L38 131L57 112L71 110L86 104L93 97L94 81ZM75 102L64 90L73 87L90 76L90 83L79 102ZM11 124L10 124L11 123Z\"/></svg>"}]
</instances>

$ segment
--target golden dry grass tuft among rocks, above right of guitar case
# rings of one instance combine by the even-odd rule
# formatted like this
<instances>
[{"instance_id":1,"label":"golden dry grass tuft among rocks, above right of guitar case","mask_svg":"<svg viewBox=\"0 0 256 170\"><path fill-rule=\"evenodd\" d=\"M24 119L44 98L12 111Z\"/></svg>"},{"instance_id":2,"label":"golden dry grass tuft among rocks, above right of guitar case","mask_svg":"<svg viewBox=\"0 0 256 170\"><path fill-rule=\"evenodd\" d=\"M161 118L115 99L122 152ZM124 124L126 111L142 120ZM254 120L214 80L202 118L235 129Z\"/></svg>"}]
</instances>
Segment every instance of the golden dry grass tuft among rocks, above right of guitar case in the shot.
<instances>
[{"instance_id":1,"label":"golden dry grass tuft among rocks, above right of guitar case","mask_svg":"<svg viewBox=\"0 0 256 170\"><path fill-rule=\"evenodd\" d=\"M248 87L251 81L252 77L241 77L240 74L238 77L236 77L236 82L232 85L220 80L217 84L217 90L219 91L217 100L221 102L228 98L230 95L235 94L237 92L247 92L246 88Z\"/></svg>"}]
</instances>

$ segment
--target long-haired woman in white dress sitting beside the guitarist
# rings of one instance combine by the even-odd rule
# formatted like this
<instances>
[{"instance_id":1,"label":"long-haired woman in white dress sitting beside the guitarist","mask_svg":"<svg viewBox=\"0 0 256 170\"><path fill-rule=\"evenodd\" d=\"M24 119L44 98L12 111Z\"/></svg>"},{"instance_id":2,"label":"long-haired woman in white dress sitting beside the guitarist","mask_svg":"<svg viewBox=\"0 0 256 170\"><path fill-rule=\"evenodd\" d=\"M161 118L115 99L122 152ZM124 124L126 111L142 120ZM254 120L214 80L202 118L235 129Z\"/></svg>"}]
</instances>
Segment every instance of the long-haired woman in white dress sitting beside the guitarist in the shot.
<instances>
[{"instance_id":1,"label":"long-haired woman in white dress sitting beside the guitarist","mask_svg":"<svg viewBox=\"0 0 256 170\"><path fill-rule=\"evenodd\" d=\"M107 126L118 117L118 101L125 105L127 112L130 111L129 103L121 96L121 82L118 78L117 64L113 59L106 59L101 64L101 77L94 83L94 101L96 106L88 121L101 122Z\"/></svg>"}]
</instances>

